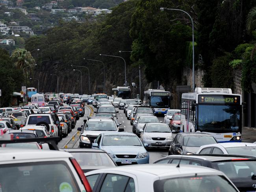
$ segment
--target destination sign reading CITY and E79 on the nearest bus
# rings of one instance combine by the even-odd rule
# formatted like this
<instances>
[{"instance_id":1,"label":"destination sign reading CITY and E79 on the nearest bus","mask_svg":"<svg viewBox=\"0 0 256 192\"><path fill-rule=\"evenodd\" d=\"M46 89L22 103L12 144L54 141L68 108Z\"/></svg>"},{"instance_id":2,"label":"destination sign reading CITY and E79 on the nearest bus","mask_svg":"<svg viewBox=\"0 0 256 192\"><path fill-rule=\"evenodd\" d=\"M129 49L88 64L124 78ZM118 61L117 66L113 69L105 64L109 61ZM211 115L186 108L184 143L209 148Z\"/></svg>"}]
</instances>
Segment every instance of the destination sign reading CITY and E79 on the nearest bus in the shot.
<instances>
[{"instance_id":1,"label":"destination sign reading CITY and E79 on the nearest bus","mask_svg":"<svg viewBox=\"0 0 256 192\"><path fill-rule=\"evenodd\" d=\"M240 96L199 95L198 103L234 103L240 104Z\"/></svg>"}]
</instances>

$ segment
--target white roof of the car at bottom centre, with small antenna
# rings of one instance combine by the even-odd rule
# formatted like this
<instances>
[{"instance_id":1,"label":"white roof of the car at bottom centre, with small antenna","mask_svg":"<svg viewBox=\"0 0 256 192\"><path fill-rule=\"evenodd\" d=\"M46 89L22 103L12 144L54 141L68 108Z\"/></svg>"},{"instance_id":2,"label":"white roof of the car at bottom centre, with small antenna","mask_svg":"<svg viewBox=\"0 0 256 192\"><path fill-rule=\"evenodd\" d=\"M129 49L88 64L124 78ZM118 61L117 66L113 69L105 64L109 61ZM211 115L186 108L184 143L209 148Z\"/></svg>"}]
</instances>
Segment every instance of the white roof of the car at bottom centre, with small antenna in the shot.
<instances>
[{"instance_id":1,"label":"white roof of the car at bottom centre, with small antenna","mask_svg":"<svg viewBox=\"0 0 256 192\"><path fill-rule=\"evenodd\" d=\"M102 170L95 170L89 172L90 175L109 172L109 171L120 171L123 173L130 173L134 175L141 175L140 173L146 173L148 176L156 177L157 179L164 179L170 177L186 177L195 175L224 175L219 170L211 169L204 166L193 166L182 164L180 167L176 167L176 164L137 164L129 166L118 166L115 168L108 168ZM88 175L89 175L88 174ZM87 175L87 174L86 174ZM143 175L145 176L145 175Z\"/></svg>"}]
</instances>

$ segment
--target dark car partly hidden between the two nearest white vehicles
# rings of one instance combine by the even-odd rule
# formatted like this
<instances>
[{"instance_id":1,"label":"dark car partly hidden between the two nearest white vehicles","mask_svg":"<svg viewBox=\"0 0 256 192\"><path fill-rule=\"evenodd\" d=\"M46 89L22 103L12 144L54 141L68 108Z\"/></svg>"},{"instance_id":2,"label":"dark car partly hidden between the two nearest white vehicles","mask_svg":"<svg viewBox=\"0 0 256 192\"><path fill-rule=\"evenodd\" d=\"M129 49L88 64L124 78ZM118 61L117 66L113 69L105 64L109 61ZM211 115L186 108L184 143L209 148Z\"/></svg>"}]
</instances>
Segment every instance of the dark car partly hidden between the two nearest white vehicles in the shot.
<instances>
[{"instance_id":1,"label":"dark car partly hidden between the two nearest white vehicles","mask_svg":"<svg viewBox=\"0 0 256 192\"><path fill-rule=\"evenodd\" d=\"M117 166L108 153L100 149L70 148L63 150L73 155L84 173Z\"/></svg>"}]
</instances>

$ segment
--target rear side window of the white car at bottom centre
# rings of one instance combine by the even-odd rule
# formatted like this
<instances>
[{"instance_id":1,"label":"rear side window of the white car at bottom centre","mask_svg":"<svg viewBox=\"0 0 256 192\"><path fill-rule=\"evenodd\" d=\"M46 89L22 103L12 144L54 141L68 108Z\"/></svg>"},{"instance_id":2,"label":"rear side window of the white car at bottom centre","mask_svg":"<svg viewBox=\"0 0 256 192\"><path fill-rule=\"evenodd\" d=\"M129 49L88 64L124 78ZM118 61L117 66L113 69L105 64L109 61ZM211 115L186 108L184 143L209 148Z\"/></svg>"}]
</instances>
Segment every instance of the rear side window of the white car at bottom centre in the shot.
<instances>
[{"instance_id":1,"label":"rear side window of the white car at bottom centre","mask_svg":"<svg viewBox=\"0 0 256 192\"><path fill-rule=\"evenodd\" d=\"M100 192L134 192L134 179L116 174L107 174Z\"/></svg>"}]
</instances>

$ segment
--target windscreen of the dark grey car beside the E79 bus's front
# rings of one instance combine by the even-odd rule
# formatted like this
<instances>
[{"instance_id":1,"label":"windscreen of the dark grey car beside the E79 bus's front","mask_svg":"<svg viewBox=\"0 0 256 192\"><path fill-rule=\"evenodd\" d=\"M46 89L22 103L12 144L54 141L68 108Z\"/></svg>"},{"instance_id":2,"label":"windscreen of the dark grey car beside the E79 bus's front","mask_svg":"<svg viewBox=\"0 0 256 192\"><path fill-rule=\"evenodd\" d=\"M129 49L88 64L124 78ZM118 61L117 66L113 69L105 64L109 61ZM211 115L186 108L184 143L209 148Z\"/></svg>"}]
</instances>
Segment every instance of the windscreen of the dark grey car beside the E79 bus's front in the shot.
<instances>
[{"instance_id":1,"label":"windscreen of the dark grey car beside the E79 bus's front","mask_svg":"<svg viewBox=\"0 0 256 192\"><path fill-rule=\"evenodd\" d=\"M184 146L200 147L202 145L210 145L217 143L211 136L184 136Z\"/></svg>"}]
</instances>

